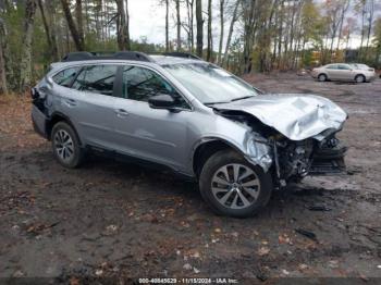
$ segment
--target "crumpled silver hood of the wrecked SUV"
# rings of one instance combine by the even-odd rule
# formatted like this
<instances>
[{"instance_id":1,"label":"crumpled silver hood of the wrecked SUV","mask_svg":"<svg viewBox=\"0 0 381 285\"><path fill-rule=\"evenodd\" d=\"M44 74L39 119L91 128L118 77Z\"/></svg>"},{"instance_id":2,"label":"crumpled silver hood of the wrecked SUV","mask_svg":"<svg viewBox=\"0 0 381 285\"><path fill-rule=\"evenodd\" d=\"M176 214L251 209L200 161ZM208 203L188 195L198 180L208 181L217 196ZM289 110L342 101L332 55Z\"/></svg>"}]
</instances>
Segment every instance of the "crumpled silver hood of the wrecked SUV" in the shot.
<instances>
[{"instance_id":1,"label":"crumpled silver hood of the wrecked SUV","mask_svg":"<svg viewBox=\"0 0 381 285\"><path fill-rule=\"evenodd\" d=\"M249 113L263 124L279 131L292 140L324 138L322 132L342 128L347 114L331 100L316 95L259 95L230 103L213 106L222 111Z\"/></svg>"}]
</instances>

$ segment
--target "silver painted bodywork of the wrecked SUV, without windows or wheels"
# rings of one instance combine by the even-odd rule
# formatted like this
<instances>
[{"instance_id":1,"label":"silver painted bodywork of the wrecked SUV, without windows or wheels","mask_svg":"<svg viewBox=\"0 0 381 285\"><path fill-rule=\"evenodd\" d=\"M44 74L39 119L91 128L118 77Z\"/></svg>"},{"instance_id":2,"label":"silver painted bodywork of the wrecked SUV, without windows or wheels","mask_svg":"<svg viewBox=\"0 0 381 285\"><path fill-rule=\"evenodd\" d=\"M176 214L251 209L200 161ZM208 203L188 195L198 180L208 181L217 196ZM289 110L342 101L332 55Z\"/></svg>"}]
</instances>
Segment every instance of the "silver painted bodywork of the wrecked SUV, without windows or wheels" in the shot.
<instances>
[{"instance_id":1,"label":"silver painted bodywork of the wrecked SUV, without windows or wheels","mask_svg":"<svg viewBox=\"0 0 381 285\"><path fill-rule=\"evenodd\" d=\"M101 147L170 166L176 172L195 176L194 153L202 144L223 141L241 152L253 164L268 171L273 163L272 150L251 127L226 119L201 103L161 64L199 62L188 59L152 57L158 62L97 60L60 62L36 86L46 110L33 108L37 127L46 133L45 122L54 114L66 116L84 146ZM164 77L188 102L189 108L172 112L151 109L147 102L83 92L56 84L52 76L66 67L89 64L125 64L150 69ZM217 107L217 106L216 106ZM340 129L345 112L330 100L317 96L258 96L249 100L218 104L221 110L239 110L258 117L291 139L322 139L328 128ZM126 111L121 115L119 110Z\"/></svg>"}]
</instances>

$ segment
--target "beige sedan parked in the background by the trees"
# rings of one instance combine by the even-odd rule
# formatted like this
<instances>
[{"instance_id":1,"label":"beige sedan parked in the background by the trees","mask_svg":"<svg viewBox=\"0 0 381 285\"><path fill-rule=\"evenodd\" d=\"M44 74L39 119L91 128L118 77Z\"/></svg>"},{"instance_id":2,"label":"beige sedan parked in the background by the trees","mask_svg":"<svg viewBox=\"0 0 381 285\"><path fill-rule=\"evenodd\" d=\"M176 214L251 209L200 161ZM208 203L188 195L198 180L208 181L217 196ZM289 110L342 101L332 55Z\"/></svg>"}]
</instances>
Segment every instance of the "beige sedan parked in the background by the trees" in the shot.
<instances>
[{"instance_id":1,"label":"beige sedan parked in the background by the trees","mask_svg":"<svg viewBox=\"0 0 381 285\"><path fill-rule=\"evenodd\" d=\"M374 69L359 63L331 63L314 69L311 75L319 82L342 80L365 83L376 78Z\"/></svg>"}]
</instances>

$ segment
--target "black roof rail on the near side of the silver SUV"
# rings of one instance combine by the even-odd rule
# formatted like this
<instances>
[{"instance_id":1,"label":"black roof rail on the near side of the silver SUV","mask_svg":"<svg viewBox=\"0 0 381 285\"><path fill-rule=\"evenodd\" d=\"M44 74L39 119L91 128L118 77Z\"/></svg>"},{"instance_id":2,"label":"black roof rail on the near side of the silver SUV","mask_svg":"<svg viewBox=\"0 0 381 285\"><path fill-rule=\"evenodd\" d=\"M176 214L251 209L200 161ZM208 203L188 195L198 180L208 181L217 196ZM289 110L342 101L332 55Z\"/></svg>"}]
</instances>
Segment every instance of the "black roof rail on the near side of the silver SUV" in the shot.
<instances>
[{"instance_id":1,"label":"black roof rail on the near side of the silver SUV","mask_svg":"<svg viewBox=\"0 0 381 285\"><path fill-rule=\"evenodd\" d=\"M62 61L85 61L85 60L133 60L152 62L153 60L143 52L118 51L113 54L103 55L101 52L77 51L67 53Z\"/></svg>"}]
</instances>

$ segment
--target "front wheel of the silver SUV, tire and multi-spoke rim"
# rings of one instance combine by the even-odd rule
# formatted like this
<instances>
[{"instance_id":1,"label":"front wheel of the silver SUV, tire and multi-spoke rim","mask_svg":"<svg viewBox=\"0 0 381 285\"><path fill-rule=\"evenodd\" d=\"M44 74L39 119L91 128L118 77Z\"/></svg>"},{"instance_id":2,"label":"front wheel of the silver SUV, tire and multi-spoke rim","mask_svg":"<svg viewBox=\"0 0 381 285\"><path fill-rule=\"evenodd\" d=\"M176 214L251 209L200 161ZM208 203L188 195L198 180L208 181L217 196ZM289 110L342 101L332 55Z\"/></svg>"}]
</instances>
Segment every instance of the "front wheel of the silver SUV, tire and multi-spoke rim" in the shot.
<instances>
[{"instance_id":1,"label":"front wheel of the silver SUV, tire and multi-spoke rim","mask_svg":"<svg viewBox=\"0 0 381 285\"><path fill-rule=\"evenodd\" d=\"M247 218L268 203L272 178L239 153L221 150L205 163L199 188L204 200L218 214Z\"/></svg>"}]
</instances>

